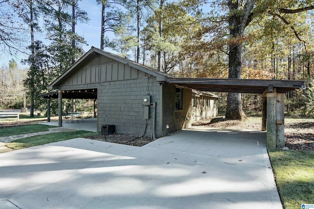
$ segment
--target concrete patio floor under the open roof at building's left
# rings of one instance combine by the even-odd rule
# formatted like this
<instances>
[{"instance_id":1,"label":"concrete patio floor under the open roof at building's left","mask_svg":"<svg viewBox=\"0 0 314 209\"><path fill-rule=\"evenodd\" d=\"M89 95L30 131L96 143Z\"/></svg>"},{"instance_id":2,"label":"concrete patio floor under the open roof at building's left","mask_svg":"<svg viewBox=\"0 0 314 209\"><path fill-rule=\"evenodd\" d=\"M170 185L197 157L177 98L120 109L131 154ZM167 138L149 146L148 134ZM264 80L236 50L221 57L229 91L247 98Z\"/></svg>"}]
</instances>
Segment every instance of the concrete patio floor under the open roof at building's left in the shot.
<instances>
[{"instance_id":1,"label":"concrete patio floor under the open roof at building's left","mask_svg":"<svg viewBox=\"0 0 314 209\"><path fill-rule=\"evenodd\" d=\"M40 123L48 126L58 126L58 121L52 122L45 122ZM62 127L66 129L74 129L74 130L85 130L85 131L95 131L97 132L97 118L85 118L83 122L69 121L66 123L65 121L62 122Z\"/></svg>"}]
</instances>

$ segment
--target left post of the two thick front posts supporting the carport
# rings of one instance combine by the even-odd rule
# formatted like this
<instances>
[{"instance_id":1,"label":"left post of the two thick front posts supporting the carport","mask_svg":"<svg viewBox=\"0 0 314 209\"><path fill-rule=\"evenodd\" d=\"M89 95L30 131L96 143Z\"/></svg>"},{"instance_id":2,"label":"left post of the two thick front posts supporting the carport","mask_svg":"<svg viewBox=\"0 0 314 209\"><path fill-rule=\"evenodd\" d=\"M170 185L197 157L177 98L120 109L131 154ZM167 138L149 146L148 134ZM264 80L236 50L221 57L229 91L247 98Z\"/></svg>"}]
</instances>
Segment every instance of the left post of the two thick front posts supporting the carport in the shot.
<instances>
[{"instance_id":1,"label":"left post of the two thick front posts supporting the carport","mask_svg":"<svg viewBox=\"0 0 314 209\"><path fill-rule=\"evenodd\" d=\"M267 97L267 148L276 149L276 96L277 93L268 93Z\"/></svg>"}]
</instances>

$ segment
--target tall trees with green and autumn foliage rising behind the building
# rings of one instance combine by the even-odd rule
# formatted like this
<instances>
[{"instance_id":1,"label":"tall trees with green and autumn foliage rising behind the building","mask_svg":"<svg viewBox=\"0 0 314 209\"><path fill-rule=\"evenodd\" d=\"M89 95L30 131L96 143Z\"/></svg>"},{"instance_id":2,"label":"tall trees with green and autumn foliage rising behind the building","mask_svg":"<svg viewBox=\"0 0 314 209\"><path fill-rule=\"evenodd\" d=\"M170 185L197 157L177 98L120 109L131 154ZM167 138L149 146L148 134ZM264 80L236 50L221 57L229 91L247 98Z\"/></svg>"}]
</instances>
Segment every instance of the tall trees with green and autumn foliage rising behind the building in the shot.
<instances>
[{"instance_id":1,"label":"tall trees with green and autumn foliage rising behind the building","mask_svg":"<svg viewBox=\"0 0 314 209\"><path fill-rule=\"evenodd\" d=\"M313 78L312 0L96 1L102 7L100 48L111 48L159 71L177 77L305 79L308 83ZM33 18L28 16L30 3ZM49 44L35 37L29 50L32 59L27 62L36 71L30 75L43 68L34 67L36 59L47 63L43 70L47 82L66 70L83 53L81 46L88 44L75 31L77 22L87 23L90 15L79 7L79 0L4 0L0 12L2 52L17 50L16 43L22 42L19 34L31 27L46 34ZM39 25L37 18L44 24ZM226 117L244 117L240 95L229 94L227 106Z\"/></svg>"}]
</instances>

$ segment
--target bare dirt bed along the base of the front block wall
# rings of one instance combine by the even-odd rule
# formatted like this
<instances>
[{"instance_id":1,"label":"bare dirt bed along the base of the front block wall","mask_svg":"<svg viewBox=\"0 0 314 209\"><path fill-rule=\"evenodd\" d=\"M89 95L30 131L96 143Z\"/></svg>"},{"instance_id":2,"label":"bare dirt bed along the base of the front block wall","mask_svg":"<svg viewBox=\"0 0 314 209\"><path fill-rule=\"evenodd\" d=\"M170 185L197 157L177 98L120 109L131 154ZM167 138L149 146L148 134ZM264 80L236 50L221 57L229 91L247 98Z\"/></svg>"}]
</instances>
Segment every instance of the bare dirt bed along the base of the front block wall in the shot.
<instances>
[{"instance_id":1,"label":"bare dirt bed along the base of the front block wall","mask_svg":"<svg viewBox=\"0 0 314 209\"><path fill-rule=\"evenodd\" d=\"M88 137L88 138L99 140L99 141L137 146L137 147L144 146L145 144L148 144L154 141L154 139L151 139L149 137L135 136L135 135L130 135L130 134L111 134L111 135L98 134L98 135Z\"/></svg>"}]
</instances>

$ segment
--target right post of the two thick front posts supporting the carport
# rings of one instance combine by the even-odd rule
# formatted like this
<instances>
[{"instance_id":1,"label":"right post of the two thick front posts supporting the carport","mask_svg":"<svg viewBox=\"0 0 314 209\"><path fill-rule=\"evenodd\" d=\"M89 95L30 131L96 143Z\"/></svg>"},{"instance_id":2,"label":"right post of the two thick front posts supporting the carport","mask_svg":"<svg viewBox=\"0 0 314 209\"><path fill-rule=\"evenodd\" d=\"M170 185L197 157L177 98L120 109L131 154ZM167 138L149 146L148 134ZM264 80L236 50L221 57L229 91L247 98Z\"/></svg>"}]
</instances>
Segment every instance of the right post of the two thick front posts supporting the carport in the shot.
<instances>
[{"instance_id":1,"label":"right post of the two thick front posts supporting the carport","mask_svg":"<svg viewBox=\"0 0 314 209\"><path fill-rule=\"evenodd\" d=\"M285 94L276 96L276 146L285 147Z\"/></svg>"}]
</instances>

